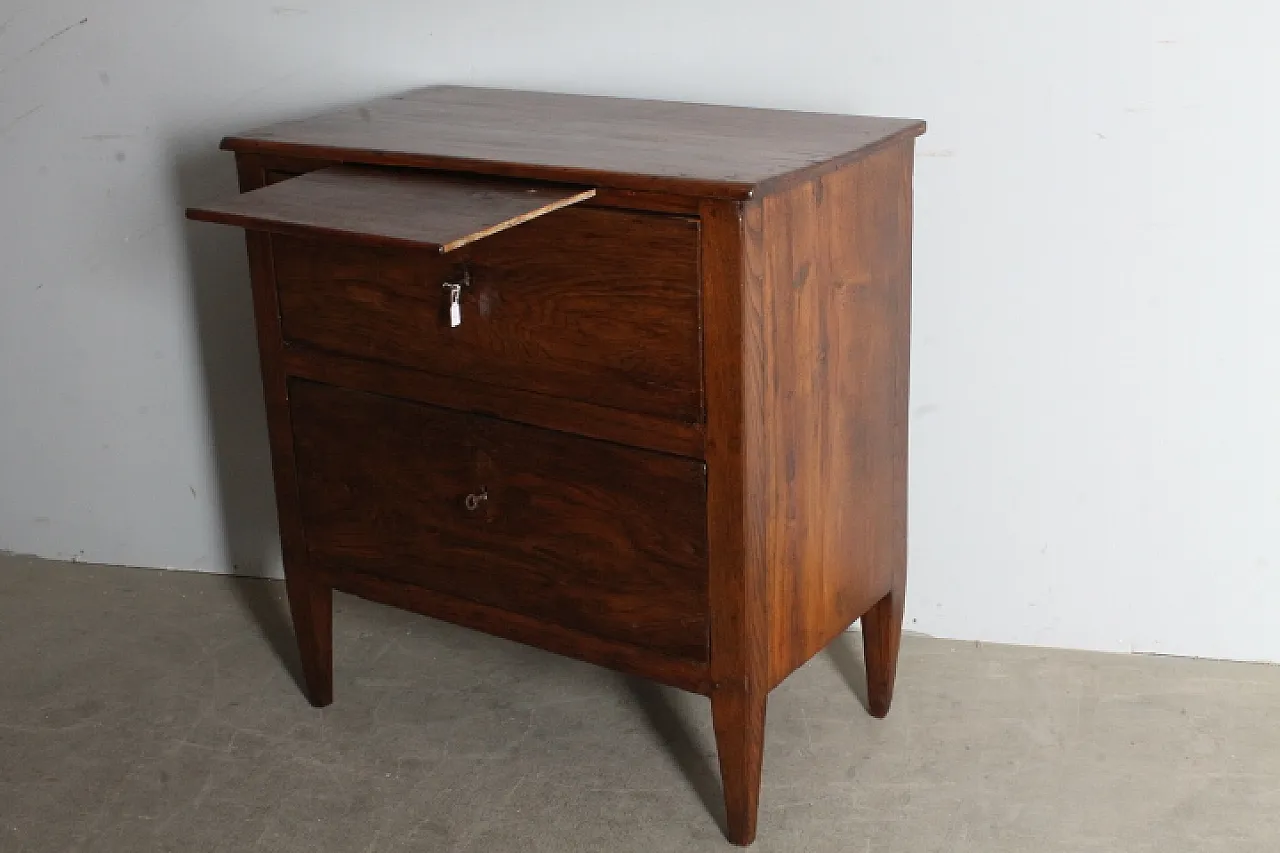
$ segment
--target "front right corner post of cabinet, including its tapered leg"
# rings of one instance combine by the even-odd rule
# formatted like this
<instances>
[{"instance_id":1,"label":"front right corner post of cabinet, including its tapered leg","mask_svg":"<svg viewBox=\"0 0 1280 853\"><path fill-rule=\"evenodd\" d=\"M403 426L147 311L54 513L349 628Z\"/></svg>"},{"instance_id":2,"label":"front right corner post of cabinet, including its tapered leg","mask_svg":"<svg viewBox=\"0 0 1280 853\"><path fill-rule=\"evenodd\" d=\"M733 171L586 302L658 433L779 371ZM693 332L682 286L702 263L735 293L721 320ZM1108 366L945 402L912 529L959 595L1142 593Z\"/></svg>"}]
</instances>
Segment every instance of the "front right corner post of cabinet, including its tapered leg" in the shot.
<instances>
[{"instance_id":1,"label":"front right corner post of cabinet, including its tapered leg","mask_svg":"<svg viewBox=\"0 0 1280 853\"><path fill-rule=\"evenodd\" d=\"M745 231L759 205L703 204L703 304L707 316L707 528L710 543L712 717L724 786L727 835L755 838L764 756L769 625L762 506L749 457L763 411L748 397L763 362L746 353Z\"/></svg>"}]
</instances>

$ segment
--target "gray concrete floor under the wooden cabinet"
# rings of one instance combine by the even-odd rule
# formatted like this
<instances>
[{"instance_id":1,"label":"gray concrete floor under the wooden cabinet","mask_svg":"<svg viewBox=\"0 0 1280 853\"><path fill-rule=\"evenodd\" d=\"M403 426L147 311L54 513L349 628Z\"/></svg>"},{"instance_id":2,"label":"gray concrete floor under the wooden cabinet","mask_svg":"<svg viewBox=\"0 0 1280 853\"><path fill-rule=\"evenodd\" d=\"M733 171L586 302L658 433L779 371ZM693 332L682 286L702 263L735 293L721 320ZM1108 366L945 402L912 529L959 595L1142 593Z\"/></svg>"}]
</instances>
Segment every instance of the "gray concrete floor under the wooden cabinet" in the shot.
<instances>
[{"instance_id":1,"label":"gray concrete floor under the wooden cabinet","mask_svg":"<svg viewBox=\"0 0 1280 853\"><path fill-rule=\"evenodd\" d=\"M1280 849L1280 667L856 637L771 699L756 850ZM0 850L726 850L705 699L339 597L0 556Z\"/></svg>"}]
</instances>

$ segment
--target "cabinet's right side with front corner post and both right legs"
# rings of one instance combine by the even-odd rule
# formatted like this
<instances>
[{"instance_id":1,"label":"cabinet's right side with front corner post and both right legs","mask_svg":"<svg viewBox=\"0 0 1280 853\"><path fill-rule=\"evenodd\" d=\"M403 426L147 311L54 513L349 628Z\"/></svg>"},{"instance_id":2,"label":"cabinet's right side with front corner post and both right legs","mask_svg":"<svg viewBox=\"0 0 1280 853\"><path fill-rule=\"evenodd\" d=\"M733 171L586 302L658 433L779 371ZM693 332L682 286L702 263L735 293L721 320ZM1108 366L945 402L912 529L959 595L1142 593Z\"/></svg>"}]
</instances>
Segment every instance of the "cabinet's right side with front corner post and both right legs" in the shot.
<instances>
[{"instance_id":1,"label":"cabinet's right side with front corner post and both right legs","mask_svg":"<svg viewBox=\"0 0 1280 853\"><path fill-rule=\"evenodd\" d=\"M755 836L768 692L863 617L892 695L906 584L911 142L703 210L712 712Z\"/></svg>"}]
</instances>

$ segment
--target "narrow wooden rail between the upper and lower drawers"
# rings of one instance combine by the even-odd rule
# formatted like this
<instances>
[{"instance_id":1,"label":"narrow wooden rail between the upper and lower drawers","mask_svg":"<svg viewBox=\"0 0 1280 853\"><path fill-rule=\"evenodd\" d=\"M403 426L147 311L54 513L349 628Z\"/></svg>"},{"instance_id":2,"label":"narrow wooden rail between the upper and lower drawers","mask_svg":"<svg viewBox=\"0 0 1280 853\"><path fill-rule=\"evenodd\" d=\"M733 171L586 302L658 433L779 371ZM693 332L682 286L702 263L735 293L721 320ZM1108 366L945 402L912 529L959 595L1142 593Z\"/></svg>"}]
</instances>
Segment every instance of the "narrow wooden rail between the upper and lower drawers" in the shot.
<instances>
[{"instance_id":1,"label":"narrow wooden rail between the upper and lower drawers","mask_svg":"<svg viewBox=\"0 0 1280 853\"><path fill-rule=\"evenodd\" d=\"M698 423L675 421L520 388L489 386L474 379L440 377L303 346L284 348L284 369L291 377L340 388L435 403L643 450L703 459L704 430Z\"/></svg>"}]
</instances>

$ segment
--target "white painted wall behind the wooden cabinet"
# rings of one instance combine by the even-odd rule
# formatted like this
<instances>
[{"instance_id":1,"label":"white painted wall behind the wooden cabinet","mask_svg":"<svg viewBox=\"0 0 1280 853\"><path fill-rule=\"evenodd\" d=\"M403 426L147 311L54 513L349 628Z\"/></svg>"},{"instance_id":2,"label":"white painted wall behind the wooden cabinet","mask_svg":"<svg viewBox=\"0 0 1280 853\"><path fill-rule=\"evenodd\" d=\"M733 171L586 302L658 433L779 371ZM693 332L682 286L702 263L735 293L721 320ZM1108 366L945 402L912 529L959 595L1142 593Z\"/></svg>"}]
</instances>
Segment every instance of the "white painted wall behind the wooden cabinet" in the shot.
<instances>
[{"instance_id":1,"label":"white painted wall behind the wooden cabinet","mask_svg":"<svg viewBox=\"0 0 1280 853\"><path fill-rule=\"evenodd\" d=\"M81 23L83 20L83 23ZM1280 661L1263 0L0 0L0 547L276 565L223 133L454 82L922 117L910 626Z\"/></svg>"}]
</instances>

